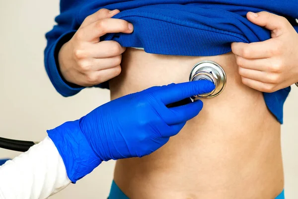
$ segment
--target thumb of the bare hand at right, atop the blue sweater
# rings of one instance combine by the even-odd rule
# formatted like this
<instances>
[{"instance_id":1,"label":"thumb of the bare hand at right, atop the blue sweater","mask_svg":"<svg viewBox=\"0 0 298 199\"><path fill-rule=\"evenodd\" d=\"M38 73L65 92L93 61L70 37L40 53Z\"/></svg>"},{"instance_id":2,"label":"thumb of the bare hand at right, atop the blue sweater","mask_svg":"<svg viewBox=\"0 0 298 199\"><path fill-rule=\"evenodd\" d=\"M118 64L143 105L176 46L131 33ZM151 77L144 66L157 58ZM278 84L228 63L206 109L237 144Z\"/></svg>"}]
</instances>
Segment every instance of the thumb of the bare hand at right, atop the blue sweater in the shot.
<instances>
[{"instance_id":1,"label":"thumb of the bare hand at right, atop the blue sweater","mask_svg":"<svg viewBox=\"0 0 298 199\"><path fill-rule=\"evenodd\" d=\"M281 30L286 28L287 24L289 23L289 21L285 17L279 16L270 12L266 12L266 11L261 11L258 13L247 12L246 17L249 21L251 21L256 25L259 25L267 28L268 30L277 31L277 32L282 32ZM281 33L276 36L279 36L279 35L281 35Z\"/></svg>"}]
</instances>

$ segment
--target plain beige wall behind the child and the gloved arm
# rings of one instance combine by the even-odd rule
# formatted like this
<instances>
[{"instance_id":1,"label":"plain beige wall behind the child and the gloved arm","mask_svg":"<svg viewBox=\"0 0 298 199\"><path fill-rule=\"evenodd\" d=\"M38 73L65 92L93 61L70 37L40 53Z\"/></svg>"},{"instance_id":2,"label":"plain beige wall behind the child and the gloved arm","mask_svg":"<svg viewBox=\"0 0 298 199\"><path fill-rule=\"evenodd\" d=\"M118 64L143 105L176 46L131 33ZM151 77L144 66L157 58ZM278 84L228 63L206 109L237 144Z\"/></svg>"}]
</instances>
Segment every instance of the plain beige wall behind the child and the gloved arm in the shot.
<instances>
[{"instance_id":1,"label":"plain beige wall behind the child and the gloved arm","mask_svg":"<svg viewBox=\"0 0 298 199\"><path fill-rule=\"evenodd\" d=\"M109 91L84 90L72 98L61 97L48 79L43 50L44 34L59 14L59 0L0 0L0 136L42 140L46 129L74 120L109 100ZM285 105L282 146L286 198L297 199L298 188L298 88L292 87ZM0 149L0 158L18 153ZM76 185L53 199L105 199L114 162L100 165Z\"/></svg>"}]
</instances>

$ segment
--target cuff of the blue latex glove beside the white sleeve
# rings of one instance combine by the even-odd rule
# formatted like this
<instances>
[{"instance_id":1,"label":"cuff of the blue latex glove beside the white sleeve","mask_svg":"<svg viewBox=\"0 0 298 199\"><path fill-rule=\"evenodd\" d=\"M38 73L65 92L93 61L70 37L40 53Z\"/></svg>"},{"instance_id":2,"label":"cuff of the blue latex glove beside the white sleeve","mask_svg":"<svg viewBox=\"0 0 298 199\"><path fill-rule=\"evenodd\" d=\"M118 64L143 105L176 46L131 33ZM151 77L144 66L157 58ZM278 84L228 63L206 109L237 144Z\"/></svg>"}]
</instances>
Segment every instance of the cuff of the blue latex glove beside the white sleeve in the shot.
<instances>
[{"instance_id":1,"label":"cuff of the blue latex glove beside the white sleeve","mask_svg":"<svg viewBox=\"0 0 298 199\"><path fill-rule=\"evenodd\" d=\"M66 122L47 132L58 149L67 175L73 183L91 173L101 163L82 133L79 120Z\"/></svg>"}]
</instances>

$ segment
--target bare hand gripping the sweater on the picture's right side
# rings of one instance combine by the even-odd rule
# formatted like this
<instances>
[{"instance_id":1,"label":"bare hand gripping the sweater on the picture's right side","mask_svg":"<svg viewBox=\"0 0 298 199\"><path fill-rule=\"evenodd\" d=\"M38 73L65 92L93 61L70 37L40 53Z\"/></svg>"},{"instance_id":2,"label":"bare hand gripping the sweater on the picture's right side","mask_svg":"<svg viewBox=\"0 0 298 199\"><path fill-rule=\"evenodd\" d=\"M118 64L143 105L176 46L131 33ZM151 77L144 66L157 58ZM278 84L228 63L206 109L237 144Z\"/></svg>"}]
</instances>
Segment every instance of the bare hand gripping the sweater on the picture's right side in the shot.
<instances>
[{"instance_id":1,"label":"bare hand gripping the sweater on the picture's right side","mask_svg":"<svg viewBox=\"0 0 298 199\"><path fill-rule=\"evenodd\" d=\"M257 15L256 15L257 14ZM298 33L282 16L269 12L247 13L251 22L271 30L271 39L232 43L242 83L272 93L298 82Z\"/></svg>"}]
</instances>

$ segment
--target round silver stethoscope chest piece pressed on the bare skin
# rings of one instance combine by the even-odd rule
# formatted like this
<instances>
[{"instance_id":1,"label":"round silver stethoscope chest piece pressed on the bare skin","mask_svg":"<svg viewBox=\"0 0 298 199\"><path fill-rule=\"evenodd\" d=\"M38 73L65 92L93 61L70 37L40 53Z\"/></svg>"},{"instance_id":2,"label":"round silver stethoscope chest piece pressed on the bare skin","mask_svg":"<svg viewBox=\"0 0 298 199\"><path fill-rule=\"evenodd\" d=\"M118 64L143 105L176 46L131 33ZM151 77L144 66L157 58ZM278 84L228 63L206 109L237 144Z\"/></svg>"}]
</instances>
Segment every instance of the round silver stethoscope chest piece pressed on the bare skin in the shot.
<instances>
[{"instance_id":1,"label":"round silver stethoscope chest piece pressed on the bare skin","mask_svg":"<svg viewBox=\"0 0 298 199\"><path fill-rule=\"evenodd\" d=\"M209 80L214 83L215 89L207 94L198 95L202 98L214 98L224 91L226 75L224 69L216 62L205 60L197 63L191 70L189 81ZM197 96L194 96L195 99Z\"/></svg>"}]
</instances>

